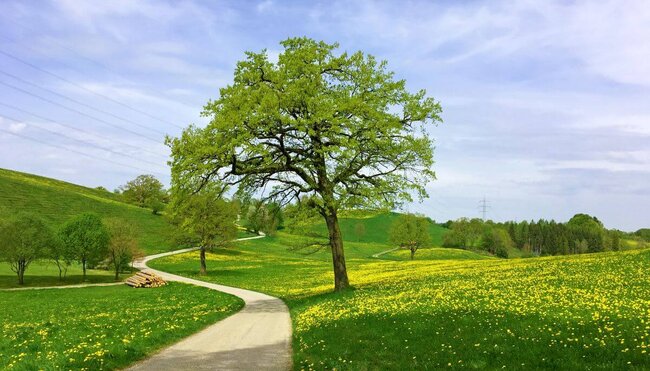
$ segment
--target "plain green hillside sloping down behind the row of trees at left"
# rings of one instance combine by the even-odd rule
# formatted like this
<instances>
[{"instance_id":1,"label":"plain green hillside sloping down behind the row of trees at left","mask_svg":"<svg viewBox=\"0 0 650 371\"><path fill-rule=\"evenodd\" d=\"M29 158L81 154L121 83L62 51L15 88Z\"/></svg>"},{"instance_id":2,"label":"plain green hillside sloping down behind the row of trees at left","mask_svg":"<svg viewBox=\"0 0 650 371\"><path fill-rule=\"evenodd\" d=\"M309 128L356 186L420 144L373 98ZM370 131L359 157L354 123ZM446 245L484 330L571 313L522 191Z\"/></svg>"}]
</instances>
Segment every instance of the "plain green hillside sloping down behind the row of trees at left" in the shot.
<instances>
[{"instance_id":1,"label":"plain green hillside sloping down behind the row of trees at left","mask_svg":"<svg viewBox=\"0 0 650 371\"><path fill-rule=\"evenodd\" d=\"M150 210L123 203L111 192L0 169L0 217L18 211L38 214L54 228L83 212L121 218L135 226L139 246L146 253L171 248L166 221Z\"/></svg>"}]
</instances>

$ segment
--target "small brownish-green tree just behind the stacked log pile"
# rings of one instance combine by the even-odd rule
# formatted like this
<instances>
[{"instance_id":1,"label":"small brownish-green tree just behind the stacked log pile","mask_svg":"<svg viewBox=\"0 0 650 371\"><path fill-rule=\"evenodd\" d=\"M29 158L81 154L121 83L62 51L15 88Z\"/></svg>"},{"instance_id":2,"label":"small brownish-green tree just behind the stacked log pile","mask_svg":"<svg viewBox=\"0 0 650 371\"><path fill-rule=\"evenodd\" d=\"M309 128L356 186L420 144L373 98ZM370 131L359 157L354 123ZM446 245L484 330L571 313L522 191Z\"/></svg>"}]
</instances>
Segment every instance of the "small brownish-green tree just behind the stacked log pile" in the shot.
<instances>
[{"instance_id":1,"label":"small brownish-green tree just behind the stacked log pile","mask_svg":"<svg viewBox=\"0 0 650 371\"><path fill-rule=\"evenodd\" d=\"M108 232L111 236L108 244L108 264L115 272L115 280L120 278L120 272L128 268L134 258L141 255L138 240L135 237L133 225L121 219L107 221Z\"/></svg>"}]
</instances>

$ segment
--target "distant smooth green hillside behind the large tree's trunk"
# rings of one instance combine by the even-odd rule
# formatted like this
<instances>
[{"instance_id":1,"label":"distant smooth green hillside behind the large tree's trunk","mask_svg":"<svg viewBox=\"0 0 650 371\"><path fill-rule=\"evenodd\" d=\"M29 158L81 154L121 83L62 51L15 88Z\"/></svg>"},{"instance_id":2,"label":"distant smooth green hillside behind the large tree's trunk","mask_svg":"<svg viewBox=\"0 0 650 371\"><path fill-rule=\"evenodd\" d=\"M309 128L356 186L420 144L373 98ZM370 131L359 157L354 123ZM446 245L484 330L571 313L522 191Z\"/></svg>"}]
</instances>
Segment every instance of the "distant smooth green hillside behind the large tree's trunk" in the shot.
<instances>
[{"instance_id":1,"label":"distant smooth green hillside behind the large tree's trunk","mask_svg":"<svg viewBox=\"0 0 650 371\"><path fill-rule=\"evenodd\" d=\"M339 218L343 240L387 244L388 231L399 215L398 213L368 214L365 212L352 212L349 215L345 215ZM363 226L361 228L363 233L361 234L358 233L358 225ZM318 222L307 228L304 232L326 237L327 227L325 226L325 222ZM447 229L436 224L431 224L429 232L431 233L431 242L433 245L441 246L442 238L447 232Z\"/></svg>"}]
</instances>

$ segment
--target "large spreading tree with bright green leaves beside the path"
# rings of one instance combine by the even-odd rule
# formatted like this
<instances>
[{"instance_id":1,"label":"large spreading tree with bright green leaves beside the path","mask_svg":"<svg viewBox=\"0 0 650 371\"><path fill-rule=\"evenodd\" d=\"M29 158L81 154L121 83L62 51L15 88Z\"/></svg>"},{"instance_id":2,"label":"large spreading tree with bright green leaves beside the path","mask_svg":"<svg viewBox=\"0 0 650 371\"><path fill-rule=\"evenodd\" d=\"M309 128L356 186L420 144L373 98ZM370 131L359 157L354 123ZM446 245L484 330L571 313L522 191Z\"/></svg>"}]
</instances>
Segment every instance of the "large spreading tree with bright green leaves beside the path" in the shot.
<instances>
[{"instance_id":1,"label":"large spreading tree with bright green leaves beside the path","mask_svg":"<svg viewBox=\"0 0 650 371\"><path fill-rule=\"evenodd\" d=\"M435 178L426 127L441 108L424 90L409 92L386 61L308 38L281 44L277 62L246 53L234 82L204 107L210 123L168 140L172 183L217 180L283 204L313 196L341 290L349 282L338 211L425 197Z\"/></svg>"}]
</instances>

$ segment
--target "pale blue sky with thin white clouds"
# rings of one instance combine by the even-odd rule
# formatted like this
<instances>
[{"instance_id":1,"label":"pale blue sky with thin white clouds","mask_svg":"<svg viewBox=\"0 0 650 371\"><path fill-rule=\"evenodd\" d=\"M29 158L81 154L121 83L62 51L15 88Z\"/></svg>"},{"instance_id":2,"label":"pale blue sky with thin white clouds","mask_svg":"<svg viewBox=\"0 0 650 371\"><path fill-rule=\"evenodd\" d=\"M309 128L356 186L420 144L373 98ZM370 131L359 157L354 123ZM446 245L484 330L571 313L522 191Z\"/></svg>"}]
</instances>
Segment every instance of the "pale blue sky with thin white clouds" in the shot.
<instances>
[{"instance_id":1,"label":"pale blue sky with thin white clouds","mask_svg":"<svg viewBox=\"0 0 650 371\"><path fill-rule=\"evenodd\" d=\"M244 51L273 57L309 36L386 59L441 102L438 180L409 211L475 217L485 196L495 220L650 226L647 1L0 7L0 167L109 189L140 173L168 182L163 133L205 123Z\"/></svg>"}]
</instances>

